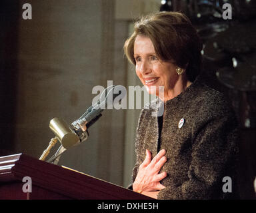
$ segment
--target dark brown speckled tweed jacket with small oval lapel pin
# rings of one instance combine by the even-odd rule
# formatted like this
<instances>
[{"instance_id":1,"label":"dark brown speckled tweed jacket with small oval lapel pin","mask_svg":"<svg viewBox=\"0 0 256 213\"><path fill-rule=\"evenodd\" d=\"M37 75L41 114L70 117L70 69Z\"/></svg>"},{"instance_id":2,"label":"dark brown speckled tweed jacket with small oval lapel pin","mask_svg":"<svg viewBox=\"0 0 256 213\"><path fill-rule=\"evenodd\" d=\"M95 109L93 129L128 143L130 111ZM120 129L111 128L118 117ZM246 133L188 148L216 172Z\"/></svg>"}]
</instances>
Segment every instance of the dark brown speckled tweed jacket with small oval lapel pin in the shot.
<instances>
[{"instance_id":1,"label":"dark brown speckled tweed jacket with small oval lapel pin","mask_svg":"<svg viewBox=\"0 0 256 213\"><path fill-rule=\"evenodd\" d=\"M133 181L146 148L153 156L165 149L168 160L160 172L168 176L161 181L166 188L158 199L238 198L237 121L223 95L196 80L165 103L160 136L159 117L152 116L156 104L144 107L139 116ZM185 123L179 128L181 118ZM223 192L225 176L231 177L232 192Z\"/></svg>"}]
</instances>

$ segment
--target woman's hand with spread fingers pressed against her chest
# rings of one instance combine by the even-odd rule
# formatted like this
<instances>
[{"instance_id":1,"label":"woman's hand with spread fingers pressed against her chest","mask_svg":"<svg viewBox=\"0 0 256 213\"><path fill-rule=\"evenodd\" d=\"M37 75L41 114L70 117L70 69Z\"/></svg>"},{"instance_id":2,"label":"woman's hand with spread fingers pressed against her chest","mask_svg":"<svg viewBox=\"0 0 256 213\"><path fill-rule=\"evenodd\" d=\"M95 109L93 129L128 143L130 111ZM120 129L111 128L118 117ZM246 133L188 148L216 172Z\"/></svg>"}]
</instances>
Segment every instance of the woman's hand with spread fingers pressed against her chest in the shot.
<instances>
[{"instance_id":1,"label":"woman's hand with spread fingers pressed against her chest","mask_svg":"<svg viewBox=\"0 0 256 213\"><path fill-rule=\"evenodd\" d=\"M133 190L136 192L143 192L143 194L156 198L159 190L165 188L160 181L167 176L167 172L159 171L167 161L165 150L161 150L152 159L151 152L146 150L146 157L139 166L138 174L133 182ZM150 193L147 193L150 192Z\"/></svg>"}]
</instances>

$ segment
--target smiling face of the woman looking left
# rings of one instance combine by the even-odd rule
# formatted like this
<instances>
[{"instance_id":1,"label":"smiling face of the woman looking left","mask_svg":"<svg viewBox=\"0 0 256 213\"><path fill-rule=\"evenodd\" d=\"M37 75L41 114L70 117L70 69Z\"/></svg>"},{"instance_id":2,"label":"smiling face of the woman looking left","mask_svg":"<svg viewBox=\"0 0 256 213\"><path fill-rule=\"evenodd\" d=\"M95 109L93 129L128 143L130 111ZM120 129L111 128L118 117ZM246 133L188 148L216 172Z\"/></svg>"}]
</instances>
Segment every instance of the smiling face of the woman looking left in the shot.
<instances>
[{"instance_id":1,"label":"smiling face of the woman looking left","mask_svg":"<svg viewBox=\"0 0 256 213\"><path fill-rule=\"evenodd\" d=\"M177 66L171 62L161 61L155 54L149 37L137 35L134 43L136 74L149 94L159 96L159 86L164 87L165 95L173 90L179 78Z\"/></svg>"}]
</instances>

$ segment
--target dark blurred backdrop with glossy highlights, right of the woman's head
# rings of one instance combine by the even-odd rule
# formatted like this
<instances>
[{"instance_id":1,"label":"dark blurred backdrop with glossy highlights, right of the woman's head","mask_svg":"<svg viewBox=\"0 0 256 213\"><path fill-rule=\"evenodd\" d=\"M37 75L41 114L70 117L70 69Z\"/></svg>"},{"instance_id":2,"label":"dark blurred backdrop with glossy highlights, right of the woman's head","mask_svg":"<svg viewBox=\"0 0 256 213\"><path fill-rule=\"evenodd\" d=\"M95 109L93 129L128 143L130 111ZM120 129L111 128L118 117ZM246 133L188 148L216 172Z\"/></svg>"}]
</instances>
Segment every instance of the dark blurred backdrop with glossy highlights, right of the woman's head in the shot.
<instances>
[{"instance_id":1,"label":"dark blurred backdrop with glossy highlights, right of the woman's head","mask_svg":"<svg viewBox=\"0 0 256 213\"><path fill-rule=\"evenodd\" d=\"M223 19L223 5L231 19ZM162 11L183 11L203 41L201 81L224 93L239 121L240 192L255 199L256 173L256 1L162 1Z\"/></svg>"}]
</instances>

